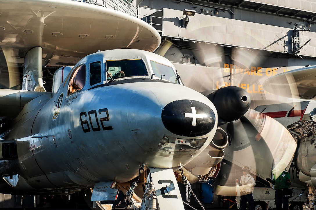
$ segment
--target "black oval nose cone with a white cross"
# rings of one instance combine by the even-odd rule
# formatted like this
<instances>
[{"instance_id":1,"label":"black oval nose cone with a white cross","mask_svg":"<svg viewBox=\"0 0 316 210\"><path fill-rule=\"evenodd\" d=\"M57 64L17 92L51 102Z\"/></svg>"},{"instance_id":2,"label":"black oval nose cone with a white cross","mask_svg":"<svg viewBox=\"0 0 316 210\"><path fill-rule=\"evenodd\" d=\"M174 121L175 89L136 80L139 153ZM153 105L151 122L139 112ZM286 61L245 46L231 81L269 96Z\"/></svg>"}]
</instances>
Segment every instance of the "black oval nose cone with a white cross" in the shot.
<instances>
[{"instance_id":1,"label":"black oval nose cone with a white cross","mask_svg":"<svg viewBox=\"0 0 316 210\"><path fill-rule=\"evenodd\" d=\"M202 102L178 100L163 108L161 120L176 135L197 137L208 134L214 128L215 114Z\"/></svg>"}]
</instances>

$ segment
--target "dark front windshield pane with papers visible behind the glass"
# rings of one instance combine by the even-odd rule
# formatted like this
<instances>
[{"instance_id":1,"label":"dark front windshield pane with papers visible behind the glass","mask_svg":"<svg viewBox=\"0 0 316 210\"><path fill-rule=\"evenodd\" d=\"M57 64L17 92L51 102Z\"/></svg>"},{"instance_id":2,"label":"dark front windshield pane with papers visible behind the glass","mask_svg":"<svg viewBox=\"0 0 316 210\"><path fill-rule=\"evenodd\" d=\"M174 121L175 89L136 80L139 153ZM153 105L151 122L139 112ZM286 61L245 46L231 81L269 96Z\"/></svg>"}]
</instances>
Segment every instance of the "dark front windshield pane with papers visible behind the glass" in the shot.
<instances>
[{"instance_id":1,"label":"dark front windshield pane with papers visible behind the glass","mask_svg":"<svg viewBox=\"0 0 316 210\"><path fill-rule=\"evenodd\" d=\"M106 61L106 70L112 79L133 76L148 76L145 63L141 59ZM109 76L107 80L111 79Z\"/></svg>"}]
</instances>

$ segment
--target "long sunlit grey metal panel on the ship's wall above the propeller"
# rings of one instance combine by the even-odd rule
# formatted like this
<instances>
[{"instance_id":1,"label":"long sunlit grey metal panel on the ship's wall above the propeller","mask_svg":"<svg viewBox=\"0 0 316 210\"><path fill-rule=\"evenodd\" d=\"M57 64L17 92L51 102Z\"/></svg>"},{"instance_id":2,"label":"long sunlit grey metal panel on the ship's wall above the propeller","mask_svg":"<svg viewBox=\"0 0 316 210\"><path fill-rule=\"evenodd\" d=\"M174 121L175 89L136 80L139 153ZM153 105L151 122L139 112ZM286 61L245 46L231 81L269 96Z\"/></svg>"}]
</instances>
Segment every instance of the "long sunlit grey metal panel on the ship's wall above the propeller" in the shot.
<instances>
[{"instance_id":1,"label":"long sunlit grey metal panel on the ship's wall above the propeller","mask_svg":"<svg viewBox=\"0 0 316 210\"><path fill-rule=\"evenodd\" d=\"M162 36L198 42L231 45L240 48L292 53L293 29L265 24L195 14L182 26L182 11L163 8ZM300 32L301 45L309 39L298 55L316 57L315 32Z\"/></svg>"}]
</instances>

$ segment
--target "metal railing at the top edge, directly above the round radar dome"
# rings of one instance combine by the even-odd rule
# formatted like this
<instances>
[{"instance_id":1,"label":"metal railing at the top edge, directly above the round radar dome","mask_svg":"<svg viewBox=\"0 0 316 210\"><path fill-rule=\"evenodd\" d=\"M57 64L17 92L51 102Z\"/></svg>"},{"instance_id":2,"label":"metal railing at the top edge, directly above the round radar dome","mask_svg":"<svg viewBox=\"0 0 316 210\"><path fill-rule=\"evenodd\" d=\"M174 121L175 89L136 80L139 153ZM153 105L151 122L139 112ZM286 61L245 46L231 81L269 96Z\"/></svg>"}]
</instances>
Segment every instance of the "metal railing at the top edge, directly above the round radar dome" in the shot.
<instances>
[{"instance_id":1,"label":"metal railing at the top edge, directly above the round radar dome","mask_svg":"<svg viewBox=\"0 0 316 210\"><path fill-rule=\"evenodd\" d=\"M138 18L138 9L128 0L72 0L82 3L95 4L106 8L124 12Z\"/></svg>"}]
</instances>

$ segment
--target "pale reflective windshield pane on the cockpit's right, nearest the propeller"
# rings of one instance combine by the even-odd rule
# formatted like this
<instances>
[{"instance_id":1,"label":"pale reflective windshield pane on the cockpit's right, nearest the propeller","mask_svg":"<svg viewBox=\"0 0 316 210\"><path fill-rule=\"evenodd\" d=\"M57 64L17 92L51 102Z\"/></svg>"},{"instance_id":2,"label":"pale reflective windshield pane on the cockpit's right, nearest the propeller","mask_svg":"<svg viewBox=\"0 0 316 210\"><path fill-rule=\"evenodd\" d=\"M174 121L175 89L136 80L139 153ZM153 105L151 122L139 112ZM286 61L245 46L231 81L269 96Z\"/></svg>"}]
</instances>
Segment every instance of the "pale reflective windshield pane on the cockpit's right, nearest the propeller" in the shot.
<instances>
[{"instance_id":1,"label":"pale reflective windshield pane on the cockpit's right, nearest the propeller","mask_svg":"<svg viewBox=\"0 0 316 210\"><path fill-rule=\"evenodd\" d=\"M174 73L173 68L171 66L166 66L164 64L157 63L155 61L150 61L150 65L156 77L161 77L161 75L164 75L162 76L162 79L167 79L170 82L179 84L177 76Z\"/></svg>"}]
</instances>

